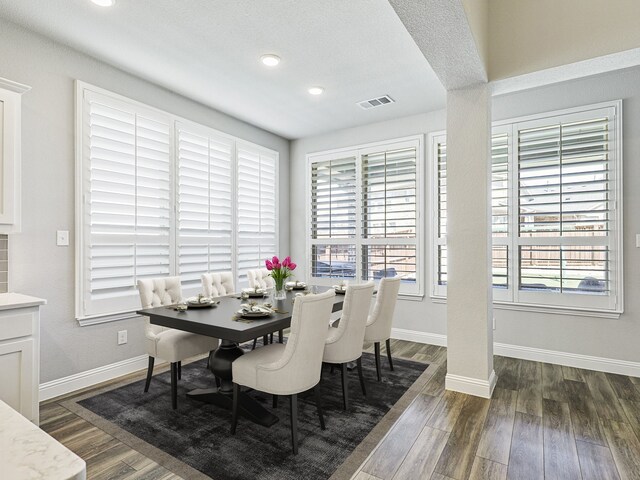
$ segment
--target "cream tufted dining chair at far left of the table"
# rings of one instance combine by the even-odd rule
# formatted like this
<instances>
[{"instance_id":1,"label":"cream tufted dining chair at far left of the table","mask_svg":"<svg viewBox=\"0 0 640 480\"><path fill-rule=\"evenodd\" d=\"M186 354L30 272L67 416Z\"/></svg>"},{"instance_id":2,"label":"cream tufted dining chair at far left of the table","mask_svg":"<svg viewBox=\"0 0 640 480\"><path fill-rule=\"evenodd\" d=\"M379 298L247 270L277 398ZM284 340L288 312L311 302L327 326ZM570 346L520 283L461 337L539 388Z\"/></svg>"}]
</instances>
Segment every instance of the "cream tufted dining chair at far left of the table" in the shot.
<instances>
[{"instance_id":1,"label":"cream tufted dining chair at far left of the table","mask_svg":"<svg viewBox=\"0 0 640 480\"><path fill-rule=\"evenodd\" d=\"M138 280L138 292L143 309L175 304L182 298L180 277ZM149 391L155 359L171 363L171 406L176 409L182 360L215 350L219 341L205 335L153 325L149 317L145 317L145 322L145 346L149 355L149 367L144 391Z\"/></svg>"}]
</instances>

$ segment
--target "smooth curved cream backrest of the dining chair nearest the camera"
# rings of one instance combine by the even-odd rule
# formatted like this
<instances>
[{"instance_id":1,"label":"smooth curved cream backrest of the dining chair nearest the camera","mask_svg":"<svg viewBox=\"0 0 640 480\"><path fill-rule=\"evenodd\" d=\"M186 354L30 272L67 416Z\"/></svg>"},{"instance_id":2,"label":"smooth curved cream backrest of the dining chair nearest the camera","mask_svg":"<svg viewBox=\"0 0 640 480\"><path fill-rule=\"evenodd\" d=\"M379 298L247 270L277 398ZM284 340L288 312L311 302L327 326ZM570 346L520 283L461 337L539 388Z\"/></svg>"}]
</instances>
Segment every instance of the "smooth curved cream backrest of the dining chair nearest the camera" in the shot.
<instances>
[{"instance_id":1,"label":"smooth curved cream backrest of the dining chair nearest the camera","mask_svg":"<svg viewBox=\"0 0 640 480\"><path fill-rule=\"evenodd\" d=\"M322 351L334 297L333 290L296 297L291 332L282 357L258 366L259 390L291 395L308 390L320 381Z\"/></svg>"}]
</instances>

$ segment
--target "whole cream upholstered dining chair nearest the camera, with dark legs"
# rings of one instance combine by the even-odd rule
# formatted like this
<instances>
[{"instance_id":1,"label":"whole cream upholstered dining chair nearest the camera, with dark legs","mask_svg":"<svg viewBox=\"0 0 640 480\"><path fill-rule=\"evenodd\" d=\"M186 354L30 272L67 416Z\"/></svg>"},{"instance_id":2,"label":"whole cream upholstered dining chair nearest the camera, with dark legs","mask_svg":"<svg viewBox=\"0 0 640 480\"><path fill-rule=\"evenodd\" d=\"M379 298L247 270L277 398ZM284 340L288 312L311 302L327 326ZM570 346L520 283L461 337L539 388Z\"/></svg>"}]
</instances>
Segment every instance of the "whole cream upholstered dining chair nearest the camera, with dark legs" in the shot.
<instances>
[{"instance_id":1,"label":"whole cream upholstered dining chair nearest the camera, with dark legs","mask_svg":"<svg viewBox=\"0 0 640 480\"><path fill-rule=\"evenodd\" d=\"M237 358L233 364L233 417L231 434L238 424L240 386L274 395L289 395L291 400L291 442L298 453L298 393L313 389L324 430L318 383L322 370L322 352L331 317L335 292L297 297L293 304L291 333L286 345L274 343Z\"/></svg>"}]
</instances>

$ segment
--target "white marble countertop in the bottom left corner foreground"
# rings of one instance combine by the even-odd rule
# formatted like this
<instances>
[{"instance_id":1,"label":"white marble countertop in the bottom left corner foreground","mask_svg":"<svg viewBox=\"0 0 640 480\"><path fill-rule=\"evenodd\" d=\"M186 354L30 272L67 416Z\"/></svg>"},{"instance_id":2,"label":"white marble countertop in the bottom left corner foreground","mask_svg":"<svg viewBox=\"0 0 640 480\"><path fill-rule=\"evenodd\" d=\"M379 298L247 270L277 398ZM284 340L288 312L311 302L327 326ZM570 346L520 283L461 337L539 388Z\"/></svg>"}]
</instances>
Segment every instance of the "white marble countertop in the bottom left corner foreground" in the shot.
<instances>
[{"instance_id":1,"label":"white marble countertop in the bottom left corner foreground","mask_svg":"<svg viewBox=\"0 0 640 480\"><path fill-rule=\"evenodd\" d=\"M84 460L0 401L0 477L85 480Z\"/></svg>"}]
</instances>

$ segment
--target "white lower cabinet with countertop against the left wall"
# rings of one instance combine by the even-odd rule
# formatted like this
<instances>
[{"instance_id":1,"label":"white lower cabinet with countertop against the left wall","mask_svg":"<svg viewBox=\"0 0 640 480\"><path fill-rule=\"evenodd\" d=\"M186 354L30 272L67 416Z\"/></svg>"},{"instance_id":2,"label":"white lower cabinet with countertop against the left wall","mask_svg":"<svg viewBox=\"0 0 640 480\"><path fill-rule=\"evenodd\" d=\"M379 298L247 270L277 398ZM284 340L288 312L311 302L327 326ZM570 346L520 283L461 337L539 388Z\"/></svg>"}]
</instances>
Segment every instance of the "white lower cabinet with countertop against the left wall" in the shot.
<instances>
[{"instance_id":1,"label":"white lower cabinet with countertop against the left wall","mask_svg":"<svg viewBox=\"0 0 640 480\"><path fill-rule=\"evenodd\" d=\"M0 400L39 421L40 305L16 293L0 294Z\"/></svg>"}]
</instances>

